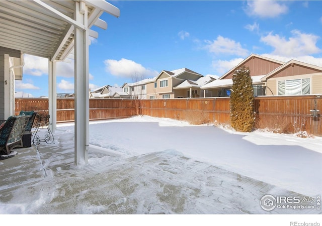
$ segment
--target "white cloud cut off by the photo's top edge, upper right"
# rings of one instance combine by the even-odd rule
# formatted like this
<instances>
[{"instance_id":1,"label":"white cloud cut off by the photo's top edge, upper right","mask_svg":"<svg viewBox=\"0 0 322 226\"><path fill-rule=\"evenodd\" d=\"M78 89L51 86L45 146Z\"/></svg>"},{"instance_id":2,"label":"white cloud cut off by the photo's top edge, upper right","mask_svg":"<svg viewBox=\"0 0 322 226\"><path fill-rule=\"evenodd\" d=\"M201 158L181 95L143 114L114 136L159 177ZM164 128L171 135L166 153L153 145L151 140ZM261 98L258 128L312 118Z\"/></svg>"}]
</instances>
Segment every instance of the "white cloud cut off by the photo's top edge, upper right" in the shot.
<instances>
[{"instance_id":1,"label":"white cloud cut off by the photo's top edge, upper right","mask_svg":"<svg viewBox=\"0 0 322 226\"><path fill-rule=\"evenodd\" d=\"M288 7L279 1L248 1L244 10L249 16L274 18L288 12Z\"/></svg>"}]
</instances>

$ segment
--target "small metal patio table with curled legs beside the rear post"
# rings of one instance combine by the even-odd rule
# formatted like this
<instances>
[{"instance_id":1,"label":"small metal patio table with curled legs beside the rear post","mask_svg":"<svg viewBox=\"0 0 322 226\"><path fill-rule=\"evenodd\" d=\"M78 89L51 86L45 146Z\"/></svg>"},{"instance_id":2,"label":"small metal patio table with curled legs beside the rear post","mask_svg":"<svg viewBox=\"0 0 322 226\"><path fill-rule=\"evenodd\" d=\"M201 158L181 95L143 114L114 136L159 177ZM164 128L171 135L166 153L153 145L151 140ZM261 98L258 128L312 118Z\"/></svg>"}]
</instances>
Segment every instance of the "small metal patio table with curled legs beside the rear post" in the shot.
<instances>
[{"instance_id":1,"label":"small metal patio table with curled legs beside the rear post","mask_svg":"<svg viewBox=\"0 0 322 226\"><path fill-rule=\"evenodd\" d=\"M50 116L48 114L37 114L36 129L32 135L32 143L34 145L38 145L40 142L46 142L47 144L55 143L54 135L49 129L49 125L52 125L52 123L49 123L49 118ZM40 127L45 127L45 129L47 129L44 139L40 139L39 135L37 135L37 133L40 131Z\"/></svg>"}]
</instances>

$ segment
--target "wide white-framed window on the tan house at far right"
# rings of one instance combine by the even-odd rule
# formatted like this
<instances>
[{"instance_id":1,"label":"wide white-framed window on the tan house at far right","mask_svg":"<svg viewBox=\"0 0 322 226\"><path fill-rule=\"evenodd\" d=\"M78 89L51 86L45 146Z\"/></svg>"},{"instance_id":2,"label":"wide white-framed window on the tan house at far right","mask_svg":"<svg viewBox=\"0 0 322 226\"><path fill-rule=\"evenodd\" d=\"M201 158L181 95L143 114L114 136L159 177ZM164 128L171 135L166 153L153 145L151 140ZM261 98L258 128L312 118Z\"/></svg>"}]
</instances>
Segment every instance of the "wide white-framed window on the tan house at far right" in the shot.
<instances>
[{"instance_id":1,"label":"wide white-framed window on the tan house at far right","mask_svg":"<svg viewBox=\"0 0 322 226\"><path fill-rule=\"evenodd\" d=\"M278 81L278 95L310 94L310 83L309 78Z\"/></svg>"}]
</instances>

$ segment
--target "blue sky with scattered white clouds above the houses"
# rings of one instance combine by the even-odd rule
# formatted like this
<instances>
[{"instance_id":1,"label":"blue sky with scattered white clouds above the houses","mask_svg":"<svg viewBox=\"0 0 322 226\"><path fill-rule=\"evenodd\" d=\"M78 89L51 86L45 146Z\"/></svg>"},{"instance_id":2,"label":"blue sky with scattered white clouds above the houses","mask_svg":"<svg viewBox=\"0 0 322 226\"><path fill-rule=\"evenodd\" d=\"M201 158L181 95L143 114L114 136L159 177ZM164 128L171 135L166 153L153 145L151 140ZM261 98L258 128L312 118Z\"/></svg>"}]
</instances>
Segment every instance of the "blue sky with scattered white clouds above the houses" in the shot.
<instances>
[{"instance_id":1,"label":"blue sky with scattered white clouds above the houses","mask_svg":"<svg viewBox=\"0 0 322 226\"><path fill-rule=\"evenodd\" d=\"M322 66L322 1L108 1L90 45L90 88L162 70L221 76L252 53ZM16 91L48 95L48 61L25 55ZM57 92L73 93L73 62L57 63Z\"/></svg>"}]
</instances>

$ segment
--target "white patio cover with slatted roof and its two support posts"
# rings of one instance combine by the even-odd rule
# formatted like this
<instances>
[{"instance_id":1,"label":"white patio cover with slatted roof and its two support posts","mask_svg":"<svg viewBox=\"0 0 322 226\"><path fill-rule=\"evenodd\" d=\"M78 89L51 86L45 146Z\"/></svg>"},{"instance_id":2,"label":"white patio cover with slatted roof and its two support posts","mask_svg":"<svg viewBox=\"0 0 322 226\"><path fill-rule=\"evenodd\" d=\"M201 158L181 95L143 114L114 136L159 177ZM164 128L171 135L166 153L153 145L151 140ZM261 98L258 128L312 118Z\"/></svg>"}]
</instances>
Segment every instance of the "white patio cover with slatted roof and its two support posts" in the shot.
<instances>
[{"instance_id":1,"label":"white patio cover with slatted roof and its two support posts","mask_svg":"<svg viewBox=\"0 0 322 226\"><path fill-rule=\"evenodd\" d=\"M56 126L56 62L74 58L75 163L87 162L89 149L89 36L92 26L107 29L103 13L120 11L98 1L0 1L0 47L48 58L49 115ZM22 59L23 60L23 59Z\"/></svg>"}]
</instances>

